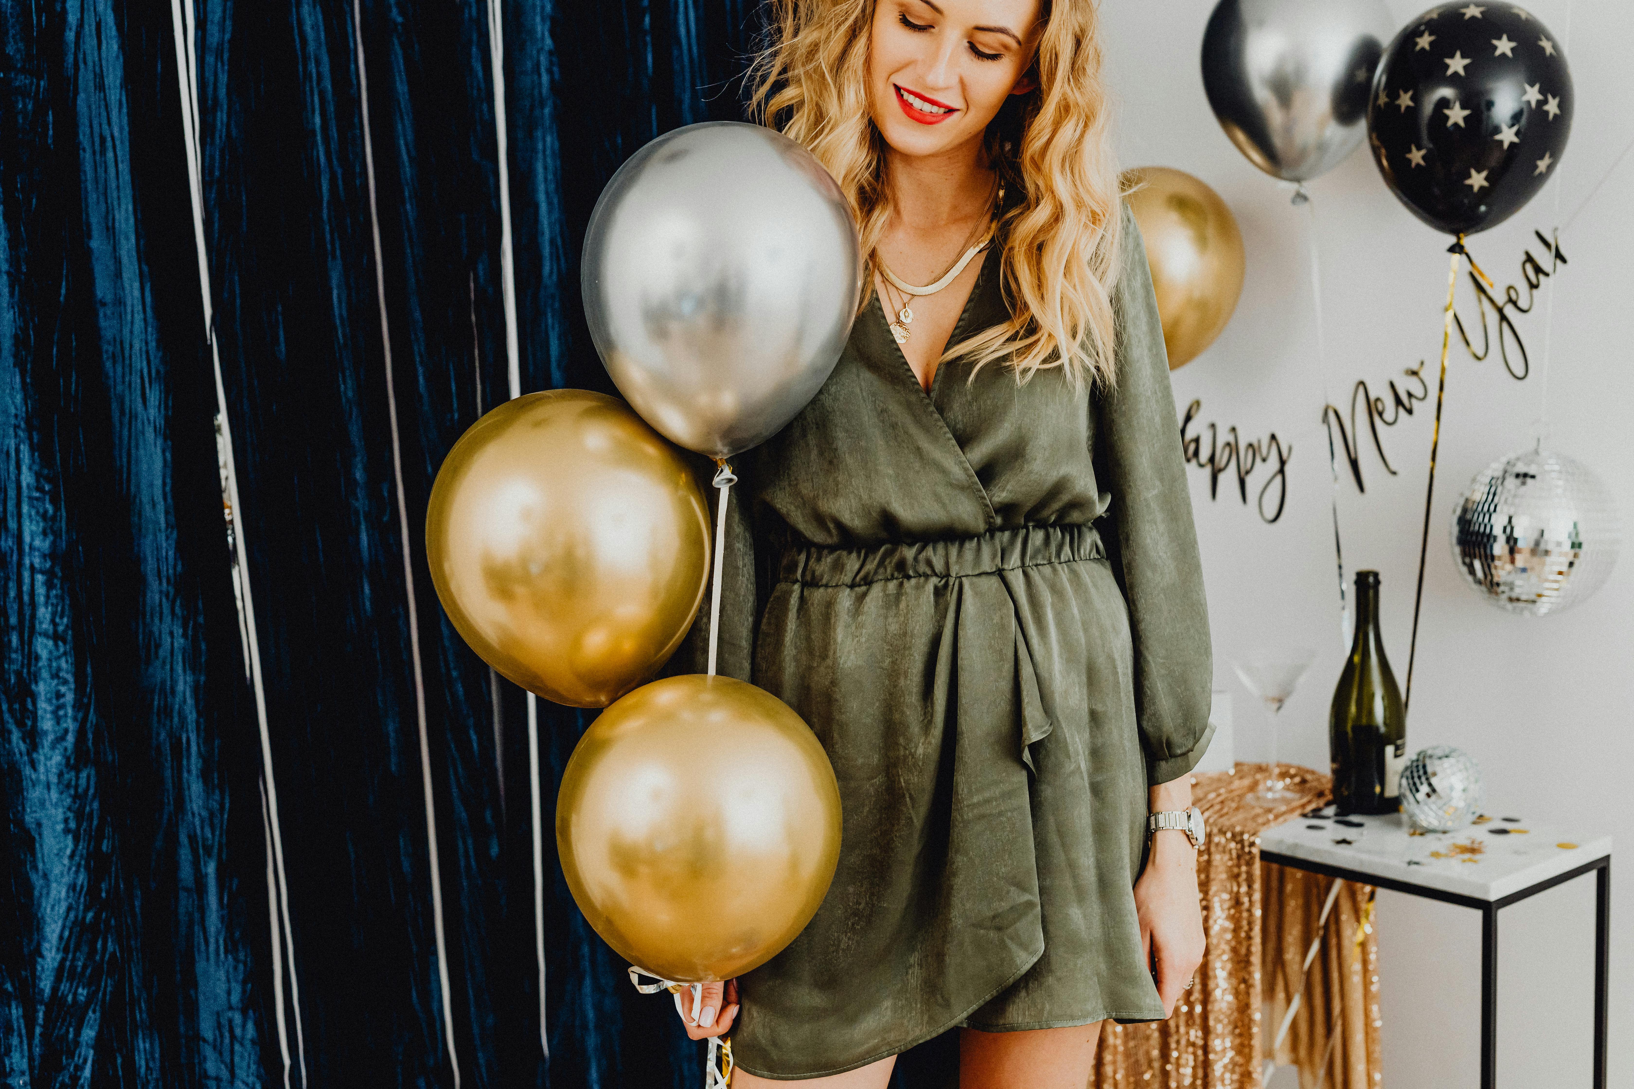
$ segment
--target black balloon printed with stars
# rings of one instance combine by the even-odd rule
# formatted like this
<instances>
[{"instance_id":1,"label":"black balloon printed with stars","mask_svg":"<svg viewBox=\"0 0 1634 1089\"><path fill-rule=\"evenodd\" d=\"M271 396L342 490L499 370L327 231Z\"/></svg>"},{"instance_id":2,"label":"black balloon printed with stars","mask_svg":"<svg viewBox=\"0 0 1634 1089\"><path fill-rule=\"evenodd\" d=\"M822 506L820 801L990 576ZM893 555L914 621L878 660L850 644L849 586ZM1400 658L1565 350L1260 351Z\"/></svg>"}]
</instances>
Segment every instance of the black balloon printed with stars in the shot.
<instances>
[{"instance_id":1,"label":"black balloon printed with stars","mask_svg":"<svg viewBox=\"0 0 1634 1089\"><path fill-rule=\"evenodd\" d=\"M1572 132L1560 42L1511 3L1443 3L1384 51L1368 139L1384 183L1453 235L1513 216L1554 175Z\"/></svg>"}]
</instances>

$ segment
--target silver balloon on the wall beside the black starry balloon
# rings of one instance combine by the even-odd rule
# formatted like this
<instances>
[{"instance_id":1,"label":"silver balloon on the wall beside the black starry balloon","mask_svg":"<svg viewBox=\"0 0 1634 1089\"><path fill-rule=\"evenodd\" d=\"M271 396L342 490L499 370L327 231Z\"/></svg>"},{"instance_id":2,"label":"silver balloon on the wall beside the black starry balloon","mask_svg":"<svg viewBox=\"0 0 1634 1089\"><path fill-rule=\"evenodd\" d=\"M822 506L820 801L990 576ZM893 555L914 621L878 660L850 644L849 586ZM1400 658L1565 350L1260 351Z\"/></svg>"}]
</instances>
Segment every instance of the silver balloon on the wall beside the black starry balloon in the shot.
<instances>
[{"instance_id":1,"label":"silver balloon on the wall beside the black starry balloon","mask_svg":"<svg viewBox=\"0 0 1634 1089\"><path fill-rule=\"evenodd\" d=\"M1394 31L1384 0L1221 0L1203 34L1203 90L1248 162L1309 181L1368 134Z\"/></svg>"}]
</instances>

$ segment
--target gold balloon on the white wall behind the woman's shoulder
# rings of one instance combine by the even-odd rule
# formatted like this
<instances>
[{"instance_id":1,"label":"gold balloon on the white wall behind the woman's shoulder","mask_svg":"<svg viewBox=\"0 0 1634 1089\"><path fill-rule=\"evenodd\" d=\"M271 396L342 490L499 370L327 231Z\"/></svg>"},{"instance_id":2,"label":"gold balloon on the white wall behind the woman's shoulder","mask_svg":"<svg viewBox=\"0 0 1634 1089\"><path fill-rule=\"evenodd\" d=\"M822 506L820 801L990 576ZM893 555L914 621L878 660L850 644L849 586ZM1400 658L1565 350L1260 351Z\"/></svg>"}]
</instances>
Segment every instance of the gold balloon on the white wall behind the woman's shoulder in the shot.
<instances>
[{"instance_id":1,"label":"gold balloon on the white wall behind the woman's shoulder","mask_svg":"<svg viewBox=\"0 0 1634 1089\"><path fill-rule=\"evenodd\" d=\"M1168 369L1214 343L1242 294L1242 232L1219 194L1180 170L1142 167L1124 175L1129 209L1145 238L1145 260L1163 318Z\"/></svg>"}]
</instances>

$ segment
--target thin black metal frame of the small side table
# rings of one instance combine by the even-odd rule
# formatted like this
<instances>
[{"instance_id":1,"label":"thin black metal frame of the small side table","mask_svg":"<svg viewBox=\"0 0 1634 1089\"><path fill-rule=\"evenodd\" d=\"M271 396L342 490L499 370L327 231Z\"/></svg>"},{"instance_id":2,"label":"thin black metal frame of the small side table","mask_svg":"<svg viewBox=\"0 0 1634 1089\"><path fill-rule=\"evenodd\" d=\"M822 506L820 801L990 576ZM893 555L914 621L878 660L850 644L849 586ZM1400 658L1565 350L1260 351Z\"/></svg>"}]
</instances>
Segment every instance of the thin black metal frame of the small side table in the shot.
<instances>
[{"instance_id":1,"label":"thin black metal frame of the small side table","mask_svg":"<svg viewBox=\"0 0 1634 1089\"><path fill-rule=\"evenodd\" d=\"M1440 888L1425 888L1423 885L1410 885L1389 877L1346 870L1340 865L1310 862L1273 851L1261 851L1260 859L1294 870L1337 877L1356 885L1374 885L1376 888L1389 888L1409 896L1425 896L1426 900L1440 900L1441 903L1480 911L1480 1089L1497 1089L1498 1084L1498 911L1595 870L1595 1089L1606 1089L1606 994L1609 989L1611 960L1609 854L1564 873L1556 873L1498 900L1482 900L1462 893L1448 893Z\"/></svg>"}]
</instances>

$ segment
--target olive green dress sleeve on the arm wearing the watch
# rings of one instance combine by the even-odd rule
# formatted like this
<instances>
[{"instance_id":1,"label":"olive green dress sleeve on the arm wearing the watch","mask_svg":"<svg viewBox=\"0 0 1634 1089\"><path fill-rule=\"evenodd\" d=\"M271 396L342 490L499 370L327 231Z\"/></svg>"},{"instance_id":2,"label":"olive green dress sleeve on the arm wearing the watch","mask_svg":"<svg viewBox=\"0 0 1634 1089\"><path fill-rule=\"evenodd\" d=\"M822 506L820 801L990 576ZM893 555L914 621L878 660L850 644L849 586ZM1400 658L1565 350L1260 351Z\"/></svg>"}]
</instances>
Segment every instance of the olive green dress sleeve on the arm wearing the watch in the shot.
<instances>
[{"instance_id":1,"label":"olive green dress sleeve on the arm wearing the watch","mask_svg":"<svg viewBox=\"0 0 1634 1089\"><path fill-rule=\"evenodd\" d=\"M1113 304L1118 379L1100 397L1098 420L1101 482L1111 491L1106 544L1129 602L1147 782L1160 784L1190 772L1208 749L1214 666L1163 327L1127 207Z\"/></svg>"}]
</instances>

